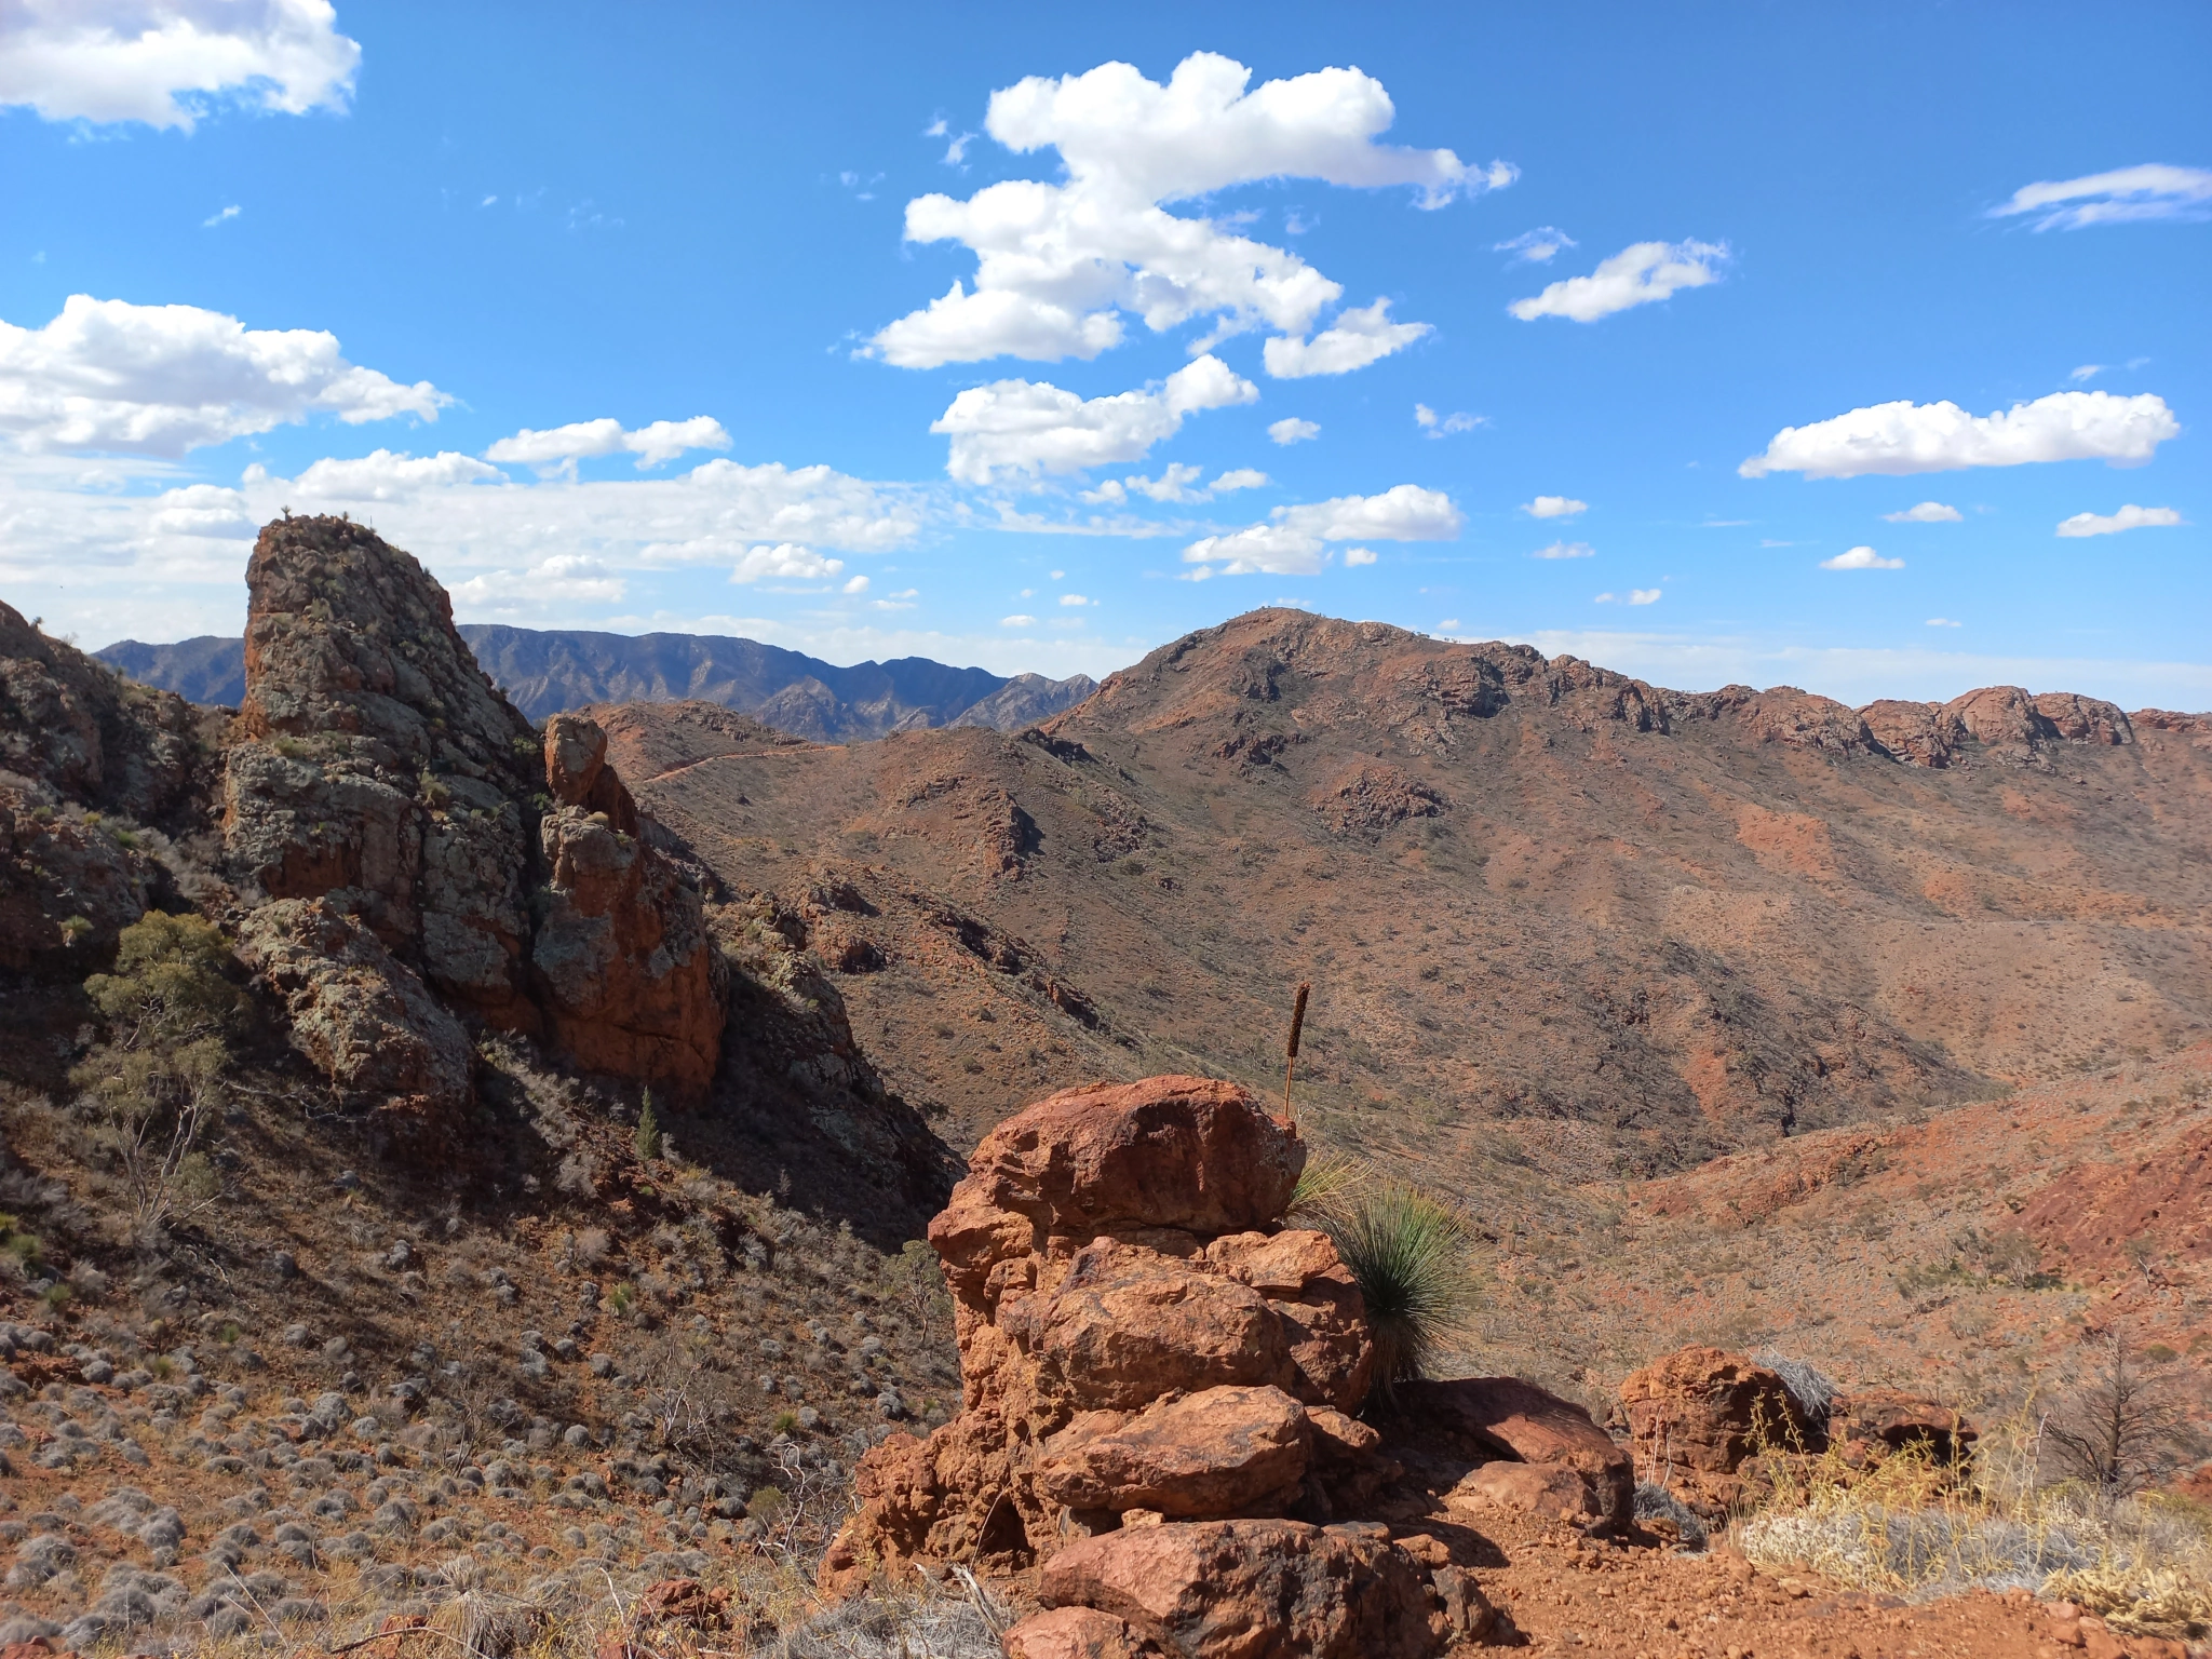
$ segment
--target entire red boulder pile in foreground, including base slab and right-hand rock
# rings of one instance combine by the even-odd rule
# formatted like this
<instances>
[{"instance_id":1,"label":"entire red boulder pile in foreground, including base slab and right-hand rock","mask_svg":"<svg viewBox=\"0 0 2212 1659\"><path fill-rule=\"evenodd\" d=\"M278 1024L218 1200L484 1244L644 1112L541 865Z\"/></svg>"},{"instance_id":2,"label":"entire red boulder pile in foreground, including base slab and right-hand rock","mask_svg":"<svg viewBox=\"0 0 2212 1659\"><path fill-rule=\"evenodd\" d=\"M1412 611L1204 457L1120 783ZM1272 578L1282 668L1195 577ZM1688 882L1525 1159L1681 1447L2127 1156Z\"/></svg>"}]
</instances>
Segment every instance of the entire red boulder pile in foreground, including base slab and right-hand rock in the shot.
<instances>
[{"instance_id":1,"label":"entire red boulder pile in foreground, including base slab and right-hand rock","mask_svg":"<svg viewBox=\"0 0 2212 1659\"><path fill-rule=\"evenodd\" d=\"M1046 1613L1009 1632L1018 1659L1413 1659L1504 1635L1440 1542L1451 1513L1619 1524L1628 1455L1511 1378L1409 1385L1360 1420L1358 1285L1283 1221L1303 1166L1296 1126L1201 1077L1064 1091L987 1135L929 1228L962 1411L860 1462L825 1588L1024 1575Z\"/></svg>"}]
</instances>

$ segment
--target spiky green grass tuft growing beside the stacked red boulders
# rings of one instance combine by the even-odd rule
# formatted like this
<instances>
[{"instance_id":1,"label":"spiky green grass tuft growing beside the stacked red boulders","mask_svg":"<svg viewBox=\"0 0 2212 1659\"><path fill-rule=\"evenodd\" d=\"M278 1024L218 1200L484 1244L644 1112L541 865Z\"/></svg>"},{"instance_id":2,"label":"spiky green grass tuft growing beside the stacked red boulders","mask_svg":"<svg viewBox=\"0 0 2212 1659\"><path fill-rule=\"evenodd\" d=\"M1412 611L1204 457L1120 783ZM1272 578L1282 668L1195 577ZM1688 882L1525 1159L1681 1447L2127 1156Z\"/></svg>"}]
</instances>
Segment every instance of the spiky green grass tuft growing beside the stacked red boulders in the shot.
<instances>
[{"instance_id":1,"label":"spiky green grass tuft growing beside the stacked red boulders","mask_svg":"<svg viewBox=\"0 0 2212 1659\"><path fill-rule=\"evenodd\" d=\"M1347 1181L1312 1212L1367 1301L1376 1389L1389 1398L1398 1383L1427 1376L1473 1314L1467 1223L1442 1199L1387 1177Z\"/></svg>"}]
</instances>

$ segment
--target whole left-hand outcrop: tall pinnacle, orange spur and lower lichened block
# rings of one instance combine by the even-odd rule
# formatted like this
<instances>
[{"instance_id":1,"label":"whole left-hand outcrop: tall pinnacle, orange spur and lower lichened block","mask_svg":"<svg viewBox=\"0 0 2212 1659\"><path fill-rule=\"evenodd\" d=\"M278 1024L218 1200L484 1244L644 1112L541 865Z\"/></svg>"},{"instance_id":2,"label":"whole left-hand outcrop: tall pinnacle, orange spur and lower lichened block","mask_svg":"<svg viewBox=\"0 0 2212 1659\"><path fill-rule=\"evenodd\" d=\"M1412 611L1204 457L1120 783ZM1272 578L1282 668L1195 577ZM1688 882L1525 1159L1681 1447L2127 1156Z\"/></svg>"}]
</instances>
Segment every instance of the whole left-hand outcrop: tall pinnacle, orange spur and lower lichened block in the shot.
<instances>
[{"instance_id":1,"label":"whole left-hand outcrop: tall pinnacle, orange spur and lower lichened block","mask_svg":"<svg viewBox=\"0 0 2212 1659\"><path fill-rule=\"evenodd\" d=\"M467 1102L447 1009L701 1097L719 958L604 732L562 719L540 739L476 666L445 588L361 524L272 522L246 582L223 847L246 900L274 905L246 933L294 1044L341 1093L425 1121ZM338 987L365 1024L345 1024ZM385 1024L420 1042L376 1062Z\"/></svg>"}]
</instances>

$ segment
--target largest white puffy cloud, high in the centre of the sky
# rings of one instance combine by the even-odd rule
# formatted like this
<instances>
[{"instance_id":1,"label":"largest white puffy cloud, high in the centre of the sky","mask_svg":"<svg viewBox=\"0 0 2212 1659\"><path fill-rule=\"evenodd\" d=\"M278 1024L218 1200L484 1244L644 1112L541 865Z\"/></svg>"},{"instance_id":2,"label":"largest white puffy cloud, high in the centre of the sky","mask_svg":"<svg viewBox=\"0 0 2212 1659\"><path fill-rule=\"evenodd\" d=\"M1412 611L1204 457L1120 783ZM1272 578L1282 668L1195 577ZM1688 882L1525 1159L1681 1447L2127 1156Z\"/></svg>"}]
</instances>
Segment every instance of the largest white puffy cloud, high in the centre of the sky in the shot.
<instances>
[{"instance_id":1,"label":"largest white puffy cloud, high in the centre of the sky","mask_svg":"<svg viewBox=\"0 0 2212 1659\"><path fill-rule=\"evenodd\" d=\"M1305 374L1343 374L1360 352L1371 363L1398 349L1411 336L1391 330L1420 325L1385 325L1378 307L1307 341L1343 296L1338 283L1283 248L1166 204L1292 177L1413 186L1422 206L1442 206L1511 184L1513 170L1378 144L1396 111L1383 84L1356 69L1250 82L1243 64L1194 53L1166 84L1113 62L995 91L984 131L1020 155L1057 150L1064 181L1006 179L964 201L909 201L907 239L962 243L975 252L975 276L885 325L865 349L898 367L1093 358L1119 345L1124 314L1152 332L1212 319L1199 349L1267 327L1298 347L1287 363L1323 365L1296 369Z\"/></svg>"}]
</instances>

